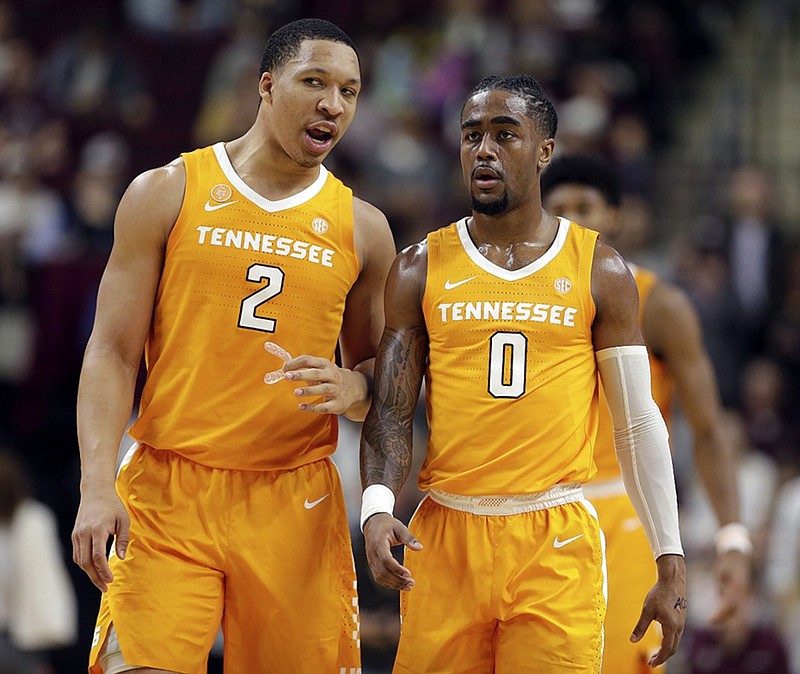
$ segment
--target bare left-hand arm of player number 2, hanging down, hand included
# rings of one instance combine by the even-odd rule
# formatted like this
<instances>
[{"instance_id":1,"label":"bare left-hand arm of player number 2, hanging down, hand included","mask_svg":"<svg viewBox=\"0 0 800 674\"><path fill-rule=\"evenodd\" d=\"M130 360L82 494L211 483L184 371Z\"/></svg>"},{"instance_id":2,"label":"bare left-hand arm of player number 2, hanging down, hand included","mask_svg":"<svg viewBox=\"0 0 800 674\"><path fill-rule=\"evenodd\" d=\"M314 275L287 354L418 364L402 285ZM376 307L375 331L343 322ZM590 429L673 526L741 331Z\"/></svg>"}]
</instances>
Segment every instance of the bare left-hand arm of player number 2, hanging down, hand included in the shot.
<instances>
[{"instance_id":1,"label":"bare left-hand arm of player number 2, hanging down, hand included","mask_svg":"<svg viewBox=\"0 0 800 674\"><path fill-rule=\"evenodd\" d=\"M127 515L114 487L117 453L131 415L166 240L180 210L184 181L182 163L174 162L142 174L123 195L81 369L81 505L72 534L73 559L101 590L111 581L105 558L109 535L117 534L117 554L125 554Z\"/></svg>"}]
</instances>

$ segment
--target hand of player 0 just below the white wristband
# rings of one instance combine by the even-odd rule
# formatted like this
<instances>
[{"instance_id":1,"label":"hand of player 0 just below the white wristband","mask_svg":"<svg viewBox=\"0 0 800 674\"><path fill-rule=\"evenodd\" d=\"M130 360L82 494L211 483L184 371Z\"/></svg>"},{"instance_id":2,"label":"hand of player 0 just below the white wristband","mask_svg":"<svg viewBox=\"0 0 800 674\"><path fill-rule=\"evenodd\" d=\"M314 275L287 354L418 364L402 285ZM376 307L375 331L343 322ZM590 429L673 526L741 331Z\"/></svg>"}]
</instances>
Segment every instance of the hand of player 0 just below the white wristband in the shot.
<instances>
[{"instance_id":1,"label":"hand of player 0 just below the white wristband","mask_svg":"<svg viewBox=\"0 0 800 674\"><path fill-rule=\"evenodd\" d=\"M389 513L377 513L364 523L364 540L367 562L375 582L390 590L408 591L414 587L411 572L392 555L392 546L406 545L414 551L422 550L414 534Z\"/></svg>"}]
</instances>

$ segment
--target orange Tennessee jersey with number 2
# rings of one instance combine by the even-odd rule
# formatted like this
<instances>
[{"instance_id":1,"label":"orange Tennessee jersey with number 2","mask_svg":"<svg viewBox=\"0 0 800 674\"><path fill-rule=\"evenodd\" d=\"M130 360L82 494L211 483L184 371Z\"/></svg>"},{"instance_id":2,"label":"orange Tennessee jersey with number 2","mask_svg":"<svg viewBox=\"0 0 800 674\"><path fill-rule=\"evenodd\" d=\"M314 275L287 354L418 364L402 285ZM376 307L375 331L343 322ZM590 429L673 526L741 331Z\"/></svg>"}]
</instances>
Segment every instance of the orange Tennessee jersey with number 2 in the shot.
<instances>
[{"instance_id":1,"label":"orange Tennessee jersey with number 2","mask_svg":"<svg viewBox=\"0 0 800 674\"><path fill-rule=\"evenodd\" d=\"M265 383L283 361L264 343L333 359L359 271L352 192L320 167L309 187L270 201L236 174L223 143L183 161L131 435L219 468L328 456L335 416L298 411L295 384Z\"/></svg>"}]
</instances>

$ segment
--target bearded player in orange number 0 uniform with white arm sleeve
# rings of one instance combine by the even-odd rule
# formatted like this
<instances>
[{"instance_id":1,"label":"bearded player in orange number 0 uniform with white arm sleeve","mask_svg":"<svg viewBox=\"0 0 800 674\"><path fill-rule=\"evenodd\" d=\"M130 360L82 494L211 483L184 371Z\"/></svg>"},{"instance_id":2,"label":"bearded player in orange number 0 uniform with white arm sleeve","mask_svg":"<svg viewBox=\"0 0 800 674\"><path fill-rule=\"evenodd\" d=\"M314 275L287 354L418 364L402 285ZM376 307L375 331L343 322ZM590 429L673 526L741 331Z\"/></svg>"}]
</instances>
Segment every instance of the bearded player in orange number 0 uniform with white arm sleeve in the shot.
<instances>
[{"instance_id":1,"label":"bearded player in orange number 0 uniform with white arm sleeve","mask_svg":"<svg viewBox=\"0 0 800 674\"><path fill-rule=\"evenodd\" d=\"M472 214L405 250L389 274L361 521L375 579L406 591L398 674L600 671L604 553L581 491L595 473L598 371L657 558L630 628L639 638L662 624L655 665L683 631L675 484L636 286L596 232L542 209L556 125L532 77L482 80L461 114ZM423 375L428 494L406 528L391 513ZM405 566L390 551L398 544Z\"/></svg>"}]
</instances>

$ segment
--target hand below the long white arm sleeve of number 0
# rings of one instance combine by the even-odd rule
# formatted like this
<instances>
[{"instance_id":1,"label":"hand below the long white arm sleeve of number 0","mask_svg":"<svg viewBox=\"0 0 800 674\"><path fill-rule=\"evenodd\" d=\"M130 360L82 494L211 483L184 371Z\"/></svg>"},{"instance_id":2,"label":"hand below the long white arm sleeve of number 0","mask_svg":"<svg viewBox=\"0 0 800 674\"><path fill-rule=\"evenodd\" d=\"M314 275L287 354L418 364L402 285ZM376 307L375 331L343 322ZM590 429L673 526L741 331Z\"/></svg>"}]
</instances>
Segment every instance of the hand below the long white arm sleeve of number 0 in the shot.
<instances>
[{"instance_id":1,"label":"hand below the long white arm sleeve of number 0","mask_svg":"<svg viewBox=\"0 0 800 674\"><path fill-rule=\"evenodd\" d=\"M631 634L637 642L654 620L661 624L661 647L647 664L663 665L678 650L686 625L686 562L680 555L661 555L656 560L658 581L647 593L639 622Z\"/></svg>"}]
</instances>

